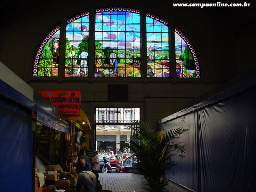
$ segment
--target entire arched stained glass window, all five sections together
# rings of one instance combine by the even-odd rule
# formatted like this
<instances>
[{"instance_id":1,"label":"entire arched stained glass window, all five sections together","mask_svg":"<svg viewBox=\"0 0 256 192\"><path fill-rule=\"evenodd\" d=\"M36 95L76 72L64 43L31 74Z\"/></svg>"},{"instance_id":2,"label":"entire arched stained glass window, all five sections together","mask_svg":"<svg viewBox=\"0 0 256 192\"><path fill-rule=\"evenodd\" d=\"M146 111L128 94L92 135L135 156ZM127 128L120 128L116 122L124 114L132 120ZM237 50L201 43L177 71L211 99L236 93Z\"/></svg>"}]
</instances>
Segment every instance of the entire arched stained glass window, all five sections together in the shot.
<instances>
[{"instance_id":1,"label":"entire arched stained glass window, all five sections together","mask_svg":"<svg viewBox=\"0 0 256 192\"><path fill-rule=\"evenodd\" d=\"M170 70L176 66L174 77L200 78L194 47L178 28L170 29L168 21L151 13L141 15L140 10L120 7L96 9L91 14L95 14L94 21L90 21L89 12L68 19L63 40L60 39L60 27L45 37L36 52L33 76L58 76L61 52L65 55L64 63L60 63L65 65L65 77L88 77L91 73L94 77L168 78L171 73L175 74ZM141 23L142 17L146 23ZM146 31L141 30L142 25L146 26ZM90 60L89 47L93 46L89 46L89 27L94 28L95 34L90 36L93 38L90 42L95 44ZM174 40L169 38L170 31L174 33ZM146 37L145 44L141 42L142 34ZM175 54L171 56L170 44L173 47L175 44ZM141 52L146 53L145 63L141 63ZM94 64L94 71L88 71L89 62Z\"/></svg>"}]
</instances>

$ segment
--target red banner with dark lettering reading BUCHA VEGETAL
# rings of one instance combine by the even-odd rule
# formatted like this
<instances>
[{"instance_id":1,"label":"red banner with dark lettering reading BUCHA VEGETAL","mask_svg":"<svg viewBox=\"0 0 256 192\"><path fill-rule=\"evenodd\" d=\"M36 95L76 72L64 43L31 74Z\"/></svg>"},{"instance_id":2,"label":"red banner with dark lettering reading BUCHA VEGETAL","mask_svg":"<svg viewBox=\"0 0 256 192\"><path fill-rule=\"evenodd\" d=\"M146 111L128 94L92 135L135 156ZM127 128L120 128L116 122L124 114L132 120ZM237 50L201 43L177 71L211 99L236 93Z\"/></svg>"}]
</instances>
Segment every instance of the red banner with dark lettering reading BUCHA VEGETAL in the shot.
<instances>
[{"instance_id":1,"label":"red banner with dark lettering reading BUCHA VEGETAL","mask_svg":"<svg viewBox=\"0 0 256 192\"><path fill-rule=\"evenodd\" d=\"M67 115L80 114L81 91L42 90L37 92L63 113Z\"/></svg>"}]
</instances>

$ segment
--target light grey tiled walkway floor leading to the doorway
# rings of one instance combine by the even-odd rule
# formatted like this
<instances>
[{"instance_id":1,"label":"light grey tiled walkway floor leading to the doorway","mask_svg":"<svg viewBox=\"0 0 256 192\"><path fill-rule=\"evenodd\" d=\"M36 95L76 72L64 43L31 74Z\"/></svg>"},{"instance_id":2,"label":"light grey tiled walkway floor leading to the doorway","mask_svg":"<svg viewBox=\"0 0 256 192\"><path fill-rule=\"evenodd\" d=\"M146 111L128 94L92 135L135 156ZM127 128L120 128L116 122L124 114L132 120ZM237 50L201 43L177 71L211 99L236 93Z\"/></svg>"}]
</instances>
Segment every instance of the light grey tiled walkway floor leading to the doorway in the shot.
<instances>
[{"instance_id":1,"label":"light grey tiled walkway floor leading to the doorway","mask_svg":"<svg viewBox=\"0 0 256 192\"><path fill-rule=\"evenodd\" d=\"M135 173L108 173L99 174L102 189L112 192L147 192L141 189L144 179L142 175ZM169 183L169 190L172 192L191 192L172 181Z\"/></svg>"}]
</instances>

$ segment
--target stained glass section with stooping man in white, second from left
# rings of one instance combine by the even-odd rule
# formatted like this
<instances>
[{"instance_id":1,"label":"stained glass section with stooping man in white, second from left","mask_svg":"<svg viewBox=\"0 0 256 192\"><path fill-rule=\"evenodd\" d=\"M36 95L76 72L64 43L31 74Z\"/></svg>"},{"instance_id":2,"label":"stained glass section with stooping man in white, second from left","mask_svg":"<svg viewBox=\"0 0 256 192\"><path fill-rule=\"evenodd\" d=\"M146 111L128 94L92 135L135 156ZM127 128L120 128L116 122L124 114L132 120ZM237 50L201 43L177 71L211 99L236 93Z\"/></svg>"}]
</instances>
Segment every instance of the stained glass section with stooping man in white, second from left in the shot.
<instances>
[{"instance_id":1,"label":"stained glass section with stooping man in white, second from left","mask_svg":"<svg viewBox=\"0 0 256 192\"><path fill-rule=\"evenodd\" d=\"M88 76L89 12L67 20L65 76Z\"/></svg>"}]
</instances>

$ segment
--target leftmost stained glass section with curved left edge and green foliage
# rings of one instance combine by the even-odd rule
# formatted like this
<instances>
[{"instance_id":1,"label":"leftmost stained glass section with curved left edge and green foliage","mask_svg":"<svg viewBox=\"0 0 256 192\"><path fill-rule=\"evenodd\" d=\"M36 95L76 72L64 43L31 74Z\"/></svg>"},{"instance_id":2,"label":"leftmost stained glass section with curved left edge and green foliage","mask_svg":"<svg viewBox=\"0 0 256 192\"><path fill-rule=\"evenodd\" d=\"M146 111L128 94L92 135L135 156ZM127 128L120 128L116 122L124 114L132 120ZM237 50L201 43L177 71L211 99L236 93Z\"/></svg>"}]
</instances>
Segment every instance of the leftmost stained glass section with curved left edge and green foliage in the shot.
<instances>
[{"instance_id":1,"label":"leftmost stained glass section with curved left edge and green foliage","mask_svg":"<svg viewBox=\"0 0 256 192\"><path fill-rule=\"evenodd\" d=\"M33 76L58 76L60 27L52 29L40 44L33 66Z\"/></svg>"}]
</instances>

